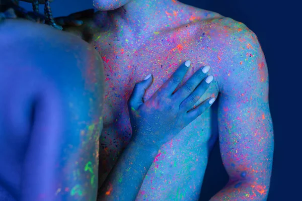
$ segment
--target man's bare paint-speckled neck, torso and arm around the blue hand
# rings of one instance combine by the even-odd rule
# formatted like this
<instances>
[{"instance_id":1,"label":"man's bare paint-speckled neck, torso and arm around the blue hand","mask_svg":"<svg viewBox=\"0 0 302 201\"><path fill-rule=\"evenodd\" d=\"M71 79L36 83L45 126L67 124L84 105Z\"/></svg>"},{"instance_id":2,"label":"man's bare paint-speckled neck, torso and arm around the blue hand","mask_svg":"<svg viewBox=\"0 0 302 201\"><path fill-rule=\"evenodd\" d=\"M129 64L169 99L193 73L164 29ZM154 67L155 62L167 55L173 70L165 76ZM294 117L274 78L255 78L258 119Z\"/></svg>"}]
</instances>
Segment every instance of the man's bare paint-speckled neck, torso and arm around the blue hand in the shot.
<instances>
[{"instance_id":1,"label":"man's bare paint-speckled neck, torso and arm around the blue hand","mask_svg":"<svg viewBox=\"0 0 302 201\"><path fill-rule=\"evenodd\" d=\"M217 97L217 111L213 106L161 147L136 199L199 199L208 154L219 138L230 180L211 200L266 200L273 128L267 65L256 35L240 22L176 1L96 0L94 6L102 11L122 6L88 22L101 27L91 43L105 68L100 183L130 140L126 103L134 83L153 74L147 100L181 61L190 59L187 78L211 66L214 81L199 102Z\"/></svg>"}]
</instances>

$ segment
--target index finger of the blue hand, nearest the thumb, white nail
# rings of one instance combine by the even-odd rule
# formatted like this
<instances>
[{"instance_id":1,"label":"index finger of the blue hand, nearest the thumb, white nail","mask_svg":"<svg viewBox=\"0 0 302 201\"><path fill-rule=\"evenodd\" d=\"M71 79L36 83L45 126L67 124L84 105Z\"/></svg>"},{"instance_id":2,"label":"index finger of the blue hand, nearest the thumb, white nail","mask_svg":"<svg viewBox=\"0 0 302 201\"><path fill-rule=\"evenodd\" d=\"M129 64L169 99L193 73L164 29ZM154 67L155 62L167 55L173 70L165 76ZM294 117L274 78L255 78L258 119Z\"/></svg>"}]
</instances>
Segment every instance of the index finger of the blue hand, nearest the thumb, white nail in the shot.
<instances>
[{"instance_id":1,"label":"index finger of the blue hand, nearest the thumb, white nail","mask_svg":"<svg viewBox=\"0 0 302 201\"><path fill-rule=\"evenodd\" d=\"M171 77L161 86L159 89L162 94L171 95L176 87L182 82L185 74L187 73L191 61L186 61L181 64L177 70L171 75Z\"/></svg>"}]
</instances>

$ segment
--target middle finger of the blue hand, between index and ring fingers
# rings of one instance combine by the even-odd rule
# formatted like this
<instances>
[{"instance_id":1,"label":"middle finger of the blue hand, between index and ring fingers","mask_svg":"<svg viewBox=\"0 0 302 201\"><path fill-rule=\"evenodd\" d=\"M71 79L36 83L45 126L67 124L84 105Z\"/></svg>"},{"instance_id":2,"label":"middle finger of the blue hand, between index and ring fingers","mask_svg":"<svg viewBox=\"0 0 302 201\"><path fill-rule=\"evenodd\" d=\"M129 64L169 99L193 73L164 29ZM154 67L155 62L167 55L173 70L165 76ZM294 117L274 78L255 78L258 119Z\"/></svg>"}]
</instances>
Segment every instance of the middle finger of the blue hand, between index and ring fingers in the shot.
<instances>
[{"instance_id":1,"label":"middle finger of the blue hand, between index and ring fingers","mask_svg":"<svg viewBox=\"0 0 302 201\"><path fill-rule=\"evenodd\" d=\"M206 77L206 73L209 71L210 66L206 65L203 68L197 70L182 87L180 87L172 96L178 99L182 103L183 100L188 97L200 82ZM202 94L201 94L202 95ZM201 96L200 95L200 96Z\"/></svg>"}]
</instances>

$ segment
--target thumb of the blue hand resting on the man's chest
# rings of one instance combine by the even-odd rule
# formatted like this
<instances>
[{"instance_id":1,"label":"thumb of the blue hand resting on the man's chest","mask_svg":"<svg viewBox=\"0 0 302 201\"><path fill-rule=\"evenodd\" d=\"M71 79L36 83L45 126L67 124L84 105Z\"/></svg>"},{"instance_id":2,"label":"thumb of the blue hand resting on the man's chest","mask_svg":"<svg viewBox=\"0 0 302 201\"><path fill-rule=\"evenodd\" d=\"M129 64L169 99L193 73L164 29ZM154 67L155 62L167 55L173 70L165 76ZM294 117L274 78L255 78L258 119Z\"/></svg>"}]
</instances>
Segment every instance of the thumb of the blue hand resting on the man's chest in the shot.
<instances>
[{"instance_id":1,"label":"thumb of the blue hand resting on the man's chest","mask_svg":"<svg viewBox=\"0 0 302 201\"><path fill-rule=\"evenodd\" d=\"M130 95L130 98L128 100L128 107L130 109L137 110L138 107L143 104L143 95L145 93L145 90L151 85L152 83L152 75L147 75L144 80L137 82L133 88L133 91Z\"/></svg>"}]
</instances>

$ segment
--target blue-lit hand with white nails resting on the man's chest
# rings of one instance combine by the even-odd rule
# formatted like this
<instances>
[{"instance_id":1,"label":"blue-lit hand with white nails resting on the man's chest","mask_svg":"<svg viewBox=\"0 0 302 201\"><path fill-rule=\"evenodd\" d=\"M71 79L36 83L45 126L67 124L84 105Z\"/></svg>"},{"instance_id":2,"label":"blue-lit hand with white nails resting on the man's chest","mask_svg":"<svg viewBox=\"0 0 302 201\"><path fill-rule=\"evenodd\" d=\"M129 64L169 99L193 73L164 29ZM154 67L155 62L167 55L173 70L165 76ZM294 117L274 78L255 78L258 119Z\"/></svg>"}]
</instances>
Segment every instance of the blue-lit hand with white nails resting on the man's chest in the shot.
<instances>
[{"instance_id":1,"label":"blue-lit hand with white nails resting on the man's chest","mask_svg":"<svg viewBox=\"0 0 302 201\"><path fill-rule=\"evenodd\" d=\"M128 100L134 142L160 148L213 104L215 98L208 98L202 104L195 105L213 80L212 75L206 75L209 66L199 69L173 93L190 64L190 61L182 64L145 103L143 95L152 83L152 76L148 75L135 84Z\"/></svg>"}]
</instances>

